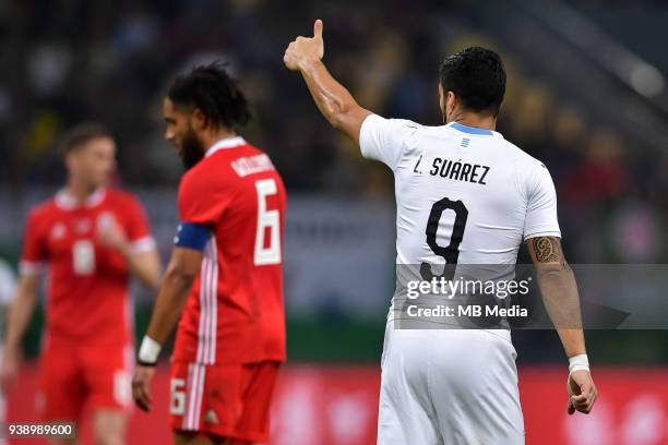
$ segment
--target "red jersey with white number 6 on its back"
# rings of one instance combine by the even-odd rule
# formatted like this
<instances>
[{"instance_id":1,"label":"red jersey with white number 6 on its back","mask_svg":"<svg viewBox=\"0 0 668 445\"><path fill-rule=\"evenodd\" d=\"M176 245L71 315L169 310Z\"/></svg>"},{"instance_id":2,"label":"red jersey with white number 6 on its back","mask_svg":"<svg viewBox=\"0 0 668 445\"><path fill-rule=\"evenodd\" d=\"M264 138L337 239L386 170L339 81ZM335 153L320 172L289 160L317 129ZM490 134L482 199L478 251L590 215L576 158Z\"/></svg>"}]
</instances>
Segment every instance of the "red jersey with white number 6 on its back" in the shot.
<instances>
[{"instance_id":1,"label":"red jersey with white number 6 on its back","mask_svg":"<svg viewBox=\"0 0 668 445\"><path fill-rule=\"evenodd\" d=\"M179 322L174 360L284 361L286 193L267 155L242 137L219 141L183 176L178 204L181 224L205 227L210 238Z\"/></svg>"}]
</instances>

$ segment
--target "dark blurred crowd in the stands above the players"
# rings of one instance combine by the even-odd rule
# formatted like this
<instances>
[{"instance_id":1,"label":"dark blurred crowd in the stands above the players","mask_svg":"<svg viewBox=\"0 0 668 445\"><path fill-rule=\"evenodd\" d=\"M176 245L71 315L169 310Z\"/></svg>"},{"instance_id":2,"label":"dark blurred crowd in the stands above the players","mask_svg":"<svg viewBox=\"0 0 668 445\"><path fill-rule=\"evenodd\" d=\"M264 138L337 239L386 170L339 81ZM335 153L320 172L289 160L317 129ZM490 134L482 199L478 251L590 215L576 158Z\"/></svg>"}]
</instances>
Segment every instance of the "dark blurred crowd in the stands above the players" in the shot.
<instances>
[{"instance_id":1,"label":"dark blurred crowd in the stands above the players","mask_svg":"<svg viewBox=\"0 0 668 445\"><path fill-rule=\"evenodd\" d=\"M550 169L572 261L668 260L666 154L636 146L576 99L562 100L477 26L467 2L455 3L2 1L0 185L21 199L31 187L59 184L56 139L94 120L117 135L122 185L174 187L181 167L163 140L165 87L180 70L223 59L252 104L254 119L241 132L271 154L291 192L391 199L390 172L331 130L283 67L286 45L310 35L319 16L325 61L358 101L424 124L441 123L440 60L472 44L498 50L509 72L499 131ZM613 97L601 100L616 106Z\"/></svg>"}]
</instances>

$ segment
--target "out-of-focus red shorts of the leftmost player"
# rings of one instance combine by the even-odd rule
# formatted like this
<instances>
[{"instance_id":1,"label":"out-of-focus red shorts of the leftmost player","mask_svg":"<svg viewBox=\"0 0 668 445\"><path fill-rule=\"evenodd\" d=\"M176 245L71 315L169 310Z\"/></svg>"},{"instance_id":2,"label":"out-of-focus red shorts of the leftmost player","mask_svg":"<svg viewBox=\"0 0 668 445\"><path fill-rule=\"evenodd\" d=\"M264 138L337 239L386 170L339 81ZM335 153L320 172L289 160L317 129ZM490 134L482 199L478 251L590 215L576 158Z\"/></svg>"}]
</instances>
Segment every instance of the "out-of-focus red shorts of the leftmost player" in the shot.
<instances>
[{"instance_id":1,"label":"out-of-focus red shorts of the leftmost player","mask_svg":"<svg viewBox=\"0 0 668 445\"><path fill-rule=\"evenodd\" d=\"M86 405L128 410L132 349L49 344L41 356L37 396L44 420L77 420Z\"/></svg>"}]
</instances>

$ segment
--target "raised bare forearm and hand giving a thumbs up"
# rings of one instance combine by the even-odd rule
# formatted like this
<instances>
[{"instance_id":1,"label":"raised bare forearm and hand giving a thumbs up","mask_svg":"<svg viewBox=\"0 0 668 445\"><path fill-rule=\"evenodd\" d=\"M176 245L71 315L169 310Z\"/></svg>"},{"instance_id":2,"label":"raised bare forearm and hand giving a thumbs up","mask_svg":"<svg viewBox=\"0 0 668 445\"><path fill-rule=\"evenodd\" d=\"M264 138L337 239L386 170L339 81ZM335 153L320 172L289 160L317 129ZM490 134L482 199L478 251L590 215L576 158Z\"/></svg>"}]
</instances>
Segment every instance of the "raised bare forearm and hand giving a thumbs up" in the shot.
<instances>
[{"instance_id":1,"label":"raised bare forearm and hand giving a thumbs up","mask_svg":"<svg viewBox=\"0 0 668 445\"><path fill-rule=\"evenodd\" d=\"M313 37L297 37L287 47L283 61L289 70L301 72L318 109L325 119L359 145L361 124L371 111L360 107L322 63L322 28L323 24L319 19L313 25Z\"/></svg>"}]
</instances>

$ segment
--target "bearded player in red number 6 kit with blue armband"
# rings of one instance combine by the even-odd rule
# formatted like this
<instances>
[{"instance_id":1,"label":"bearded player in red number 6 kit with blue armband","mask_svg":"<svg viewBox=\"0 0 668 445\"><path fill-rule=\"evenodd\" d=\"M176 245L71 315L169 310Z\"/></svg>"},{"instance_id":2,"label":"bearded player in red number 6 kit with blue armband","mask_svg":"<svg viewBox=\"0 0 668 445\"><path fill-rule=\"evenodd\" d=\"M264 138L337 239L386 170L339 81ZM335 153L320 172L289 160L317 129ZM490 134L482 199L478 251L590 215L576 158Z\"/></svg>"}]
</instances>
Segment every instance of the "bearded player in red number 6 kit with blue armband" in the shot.
<instances>
[{"instance_id":1,"label":"bearded player in red number 6 kit with blue armband","mask_svg":"<svg viewBox=\"0 0 668 445\"><path fill-rule=\"evenodd\" d=\"M151 409L153 366L178 321L175 443L265 442L285 360L283 181L267 155L235 133L250 116L223 65L178 76L163 112L165 136L188 171L179 187L175 249L139 352L134 400Z\"/></svg>"}]
</instances>

